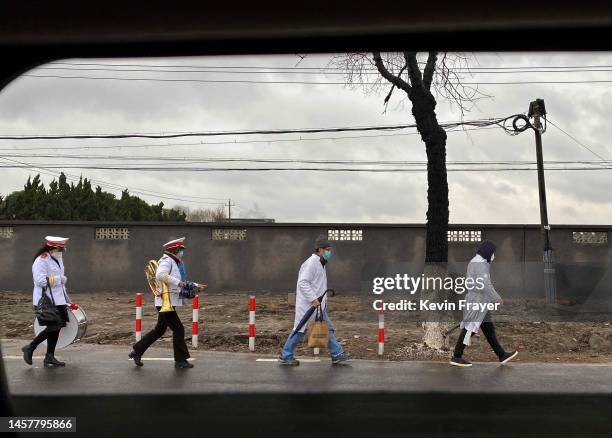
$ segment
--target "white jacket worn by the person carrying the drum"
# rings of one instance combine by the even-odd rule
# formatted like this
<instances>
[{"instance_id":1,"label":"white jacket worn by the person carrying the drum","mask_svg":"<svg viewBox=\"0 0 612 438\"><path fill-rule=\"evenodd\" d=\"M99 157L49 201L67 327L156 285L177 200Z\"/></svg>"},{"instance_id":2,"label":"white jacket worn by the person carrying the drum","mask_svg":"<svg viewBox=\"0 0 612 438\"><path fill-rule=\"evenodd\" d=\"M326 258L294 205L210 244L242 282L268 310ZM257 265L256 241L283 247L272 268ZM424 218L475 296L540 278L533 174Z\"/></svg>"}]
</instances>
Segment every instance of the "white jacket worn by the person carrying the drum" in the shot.
<instances>
[{"instance_id":1,"label":"white jacket worn by the person carrying the drum","mask_svg":"<svg viewBox=\"0 0 612 438\"><path fill-rule=\"evenodd\" d=\"M52 257L48 252L43 252L36 257L32 264L32 279L34 281L32 304L38 305L42 298L43 287L47 286L47 278L55 305L61 306L71 303L66 293L67 278L64 275L64 261L61 258ZM49 288L47 289L47 295Z\"/></svg>"}]
</instances>

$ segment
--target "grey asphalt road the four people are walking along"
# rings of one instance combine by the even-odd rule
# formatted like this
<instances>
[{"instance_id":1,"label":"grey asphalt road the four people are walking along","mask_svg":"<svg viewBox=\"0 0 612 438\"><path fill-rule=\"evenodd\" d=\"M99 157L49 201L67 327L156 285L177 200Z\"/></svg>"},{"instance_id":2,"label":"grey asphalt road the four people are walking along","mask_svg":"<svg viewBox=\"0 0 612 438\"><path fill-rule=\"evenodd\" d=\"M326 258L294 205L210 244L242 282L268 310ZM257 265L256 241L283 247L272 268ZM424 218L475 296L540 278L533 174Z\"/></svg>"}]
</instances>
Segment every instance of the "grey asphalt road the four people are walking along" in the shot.
<instances>
[{"instance_id":1,"label":"grey asphalt road the four people are walking along","mask_svg":"<svg viewBox=\"0 0 612 438\"><path fill-rule=\"evenodd\" d=\"M14 395L215 394L215 393L534 393L612 394L612 364L475 363L472 368L437 362L354 360L332 365L309 358L279 366L257 353L192 351L195 368L175 370L172 351L151 348L137 368L122 346L76 344L59 350L65 368L45 369L44 348L28 366L18 340L2 352ZM259 360L258 360L259 359Z\"/></svg>"}]
</instances>

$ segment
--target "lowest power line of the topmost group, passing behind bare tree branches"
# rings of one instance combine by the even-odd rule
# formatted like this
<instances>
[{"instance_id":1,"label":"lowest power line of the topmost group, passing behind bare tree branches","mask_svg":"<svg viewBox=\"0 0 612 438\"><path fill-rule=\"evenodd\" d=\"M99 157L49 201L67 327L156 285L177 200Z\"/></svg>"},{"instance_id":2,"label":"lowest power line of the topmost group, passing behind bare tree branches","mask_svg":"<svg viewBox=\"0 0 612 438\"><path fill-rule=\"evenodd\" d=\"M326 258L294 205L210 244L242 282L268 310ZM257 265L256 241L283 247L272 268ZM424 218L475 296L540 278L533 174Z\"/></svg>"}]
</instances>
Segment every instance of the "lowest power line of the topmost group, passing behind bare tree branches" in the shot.
<instances>
[{"instance_id":1,"label":"lowest power line of the topmost group, passing behind bare tree branches","mask_svg":"<svg viewBox=\"0 0 612 438\"><path fill-rule=\"evenodd\" d=\"M135 82L186 82L211 84L271 84L271 85L350 85L342 82L312 82L312 81L257 81L232 79L172 79L172 78L118 78L112 76L63 76L63 75L35 75L22 74L20 77L46 78L46 79L85 79L97 81L135 81ZM515 81L515 82L448 82L450 85L552 85L552 84L607 84L612 80L582 80L582 81Z\"/></svg>"}]
</instances>

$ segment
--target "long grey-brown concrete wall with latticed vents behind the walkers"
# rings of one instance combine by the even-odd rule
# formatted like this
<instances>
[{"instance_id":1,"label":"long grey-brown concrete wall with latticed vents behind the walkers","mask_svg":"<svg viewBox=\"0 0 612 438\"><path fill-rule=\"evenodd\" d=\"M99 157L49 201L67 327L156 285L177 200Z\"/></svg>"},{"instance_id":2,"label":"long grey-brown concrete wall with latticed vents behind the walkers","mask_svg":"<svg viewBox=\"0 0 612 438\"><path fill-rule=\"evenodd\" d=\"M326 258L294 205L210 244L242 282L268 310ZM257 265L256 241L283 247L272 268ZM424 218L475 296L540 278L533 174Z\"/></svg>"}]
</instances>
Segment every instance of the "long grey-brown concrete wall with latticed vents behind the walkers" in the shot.
<instances>
[{"instance_id":1,"label":"long grey-brown concrete wall with latticed vents behind the walkers","mask_svg":"<svg viewBox=\"0 0 612 438\"><path fill-rule=\"evenodd\" d=\"M143 267L161 254L161 244L186 236L189 278L203 281L209 291L287 292L295 288L300 264L317 235L328 229L361 229L362 241L334 242L328 265L330 287L344 293L367 293L375 276L408 272L420 275L425 248L421 224L168 224L99 222L6 222L12 238L0 238L0 289L31 290L32 256L45 235L70 237L65 256L68 286L73 291L141 291ZM129 240L96 240L96 227L130 229ZM212 240L213 228L247 230L244 241ZM542 239L536 225L452 225L451 229L481 230L482 238L498 245L492 275L506 296L542 297ZM612 297L612 249L609 244L577 245L572 231L605 231L612 226L553 226L551 241L558 261L559 297ZM475 243L450 243L449 268L465 273Z\"/></svg>"}]
</instances>

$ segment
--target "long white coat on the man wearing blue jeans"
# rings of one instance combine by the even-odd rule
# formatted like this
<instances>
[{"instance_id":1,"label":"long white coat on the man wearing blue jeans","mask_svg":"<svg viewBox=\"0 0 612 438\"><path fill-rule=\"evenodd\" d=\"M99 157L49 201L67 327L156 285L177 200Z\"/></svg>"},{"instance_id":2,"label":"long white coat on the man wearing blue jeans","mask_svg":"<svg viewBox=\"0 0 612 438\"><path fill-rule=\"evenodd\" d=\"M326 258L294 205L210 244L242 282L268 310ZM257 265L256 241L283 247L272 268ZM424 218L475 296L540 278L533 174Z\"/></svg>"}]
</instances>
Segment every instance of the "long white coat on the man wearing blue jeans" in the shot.
<instances>
[{"instance_id":1,"label":"long white coat on the man wearing blue jeans","mask_svg":"<svg viewBox=\"0 0 612 438\"><path fill-rule=\"evenodd\" d=\"M293 323L293 330L296 329L308 309L312 307L312 301L323 295L326 290L327 273L325 267L321 264L321 258L313 254L302 263L300 273L298 274L295 289L295 321ZM327 295L323 298L321 305L323 308L327 306ZM316 312L312 314L308 323L314 320L315 315ZM300 332L304 332L307 329L308 323L304 324Z\"/></svg>"}]
</instances>

